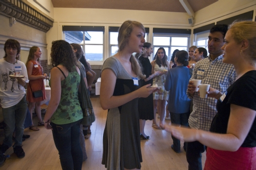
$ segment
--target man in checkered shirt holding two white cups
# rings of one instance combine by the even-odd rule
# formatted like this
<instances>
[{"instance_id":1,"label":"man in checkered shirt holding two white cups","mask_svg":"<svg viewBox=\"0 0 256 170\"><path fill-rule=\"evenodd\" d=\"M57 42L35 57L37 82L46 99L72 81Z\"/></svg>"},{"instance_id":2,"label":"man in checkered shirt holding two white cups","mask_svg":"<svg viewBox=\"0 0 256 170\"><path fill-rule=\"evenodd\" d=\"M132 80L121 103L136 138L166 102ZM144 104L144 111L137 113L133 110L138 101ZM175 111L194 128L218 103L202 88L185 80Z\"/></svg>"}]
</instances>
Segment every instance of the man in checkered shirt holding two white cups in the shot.
<instances>
[{"instance_id":1,"label":"man in checkered shirt holding two white cups","mask_svg":"<svg viewBox=\"0 0 256 170\"><path fill-rule=\"evenodd\" d=\"M235 81L235 71L232 65L223 63L224 37L228 26L221 24L211 28L208 36L209 57L198 61L193 70L193 75L188 84L187 96L193 99L193 111L189 116L189 126L191 129L204 131L210 130L213 117L216 115L215 98L200 98L199 92L195 92L192 79L200 79L201 83L210 84L210 87L218 89L224 93ZM205 146L198 141L188 142L186 156L188 169L202 169L202 153Z\"/></svg>"}]
</instances>

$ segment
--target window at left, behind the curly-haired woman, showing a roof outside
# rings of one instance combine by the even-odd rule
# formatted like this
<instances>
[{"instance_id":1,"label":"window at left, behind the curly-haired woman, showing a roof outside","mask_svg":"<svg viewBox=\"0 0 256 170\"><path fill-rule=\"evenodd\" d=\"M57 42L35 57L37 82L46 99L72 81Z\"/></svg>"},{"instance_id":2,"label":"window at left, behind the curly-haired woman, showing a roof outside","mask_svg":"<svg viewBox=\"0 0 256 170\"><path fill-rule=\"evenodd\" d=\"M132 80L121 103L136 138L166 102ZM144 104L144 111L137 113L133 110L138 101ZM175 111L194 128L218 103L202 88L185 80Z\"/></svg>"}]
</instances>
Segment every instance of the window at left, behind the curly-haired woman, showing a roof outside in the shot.
<instances>
[{"instance_id":1,"label":"window at left, behind the curly-haired woman, showing a roof outside","mask_svg":"<svg viewBox=\"0 0 256 170\"><path fill-rule=\"evenodd\" d=\"M104 27L63 26L64 38L81 45L88 61L103 61Z\"/></svg>"}]
</instances>

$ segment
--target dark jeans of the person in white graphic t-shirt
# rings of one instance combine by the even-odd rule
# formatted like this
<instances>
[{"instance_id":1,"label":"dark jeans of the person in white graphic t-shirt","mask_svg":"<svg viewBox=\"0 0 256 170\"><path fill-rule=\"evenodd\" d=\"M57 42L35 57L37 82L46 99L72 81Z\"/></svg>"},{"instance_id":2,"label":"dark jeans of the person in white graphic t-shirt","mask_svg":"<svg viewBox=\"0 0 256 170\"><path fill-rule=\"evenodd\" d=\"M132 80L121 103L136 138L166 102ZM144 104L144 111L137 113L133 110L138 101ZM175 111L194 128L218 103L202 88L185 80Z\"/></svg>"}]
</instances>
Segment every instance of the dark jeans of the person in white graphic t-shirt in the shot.
<instances>
[{"instance_id":1,"label":"dark jeans of the person in white graphic t-shirt","mask_svg":"<svg viewBox=\"0 0 256 170\"><path fill-rule=\"evenodd\" d=\"M5 126L5 139L3 144L11 147L12 145L12 134L15 130L15 146L22 145L22 136L24 131L24 121L27 114L27 101L26 95L19 101L17 104L13 105L10 108L2 108Z\"/></svg>"}]
</instances>

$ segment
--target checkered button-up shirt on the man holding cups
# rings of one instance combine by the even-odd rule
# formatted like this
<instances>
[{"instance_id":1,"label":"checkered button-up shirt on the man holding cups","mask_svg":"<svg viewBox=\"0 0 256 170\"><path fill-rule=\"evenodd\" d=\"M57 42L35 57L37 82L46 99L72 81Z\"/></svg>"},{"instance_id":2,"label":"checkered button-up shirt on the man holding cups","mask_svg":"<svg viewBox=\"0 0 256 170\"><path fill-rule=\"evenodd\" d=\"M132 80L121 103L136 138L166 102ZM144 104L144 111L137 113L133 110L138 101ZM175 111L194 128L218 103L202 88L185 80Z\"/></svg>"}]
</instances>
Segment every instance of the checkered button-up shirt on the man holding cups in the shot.
<instances>
[{"instance_id":1,"label":"checkered button-up shirt on the man holding cups","mask_svg":"<svg viewBox=\"0 0 256 170\"><path fill-rule=\"evenodd\" d=\"M211 60L209 57L196 63L191 79L201 79L201 83L210 84L210 87L224 93L227 88L235 81L235 71L233 65L222 62L223 54ZM215 98L200 98L198 92L194 92L193 111L189 116L188 123L192 129L204 131L210 130L213 117L216 115Z\"/></svg>"}]
</instances>

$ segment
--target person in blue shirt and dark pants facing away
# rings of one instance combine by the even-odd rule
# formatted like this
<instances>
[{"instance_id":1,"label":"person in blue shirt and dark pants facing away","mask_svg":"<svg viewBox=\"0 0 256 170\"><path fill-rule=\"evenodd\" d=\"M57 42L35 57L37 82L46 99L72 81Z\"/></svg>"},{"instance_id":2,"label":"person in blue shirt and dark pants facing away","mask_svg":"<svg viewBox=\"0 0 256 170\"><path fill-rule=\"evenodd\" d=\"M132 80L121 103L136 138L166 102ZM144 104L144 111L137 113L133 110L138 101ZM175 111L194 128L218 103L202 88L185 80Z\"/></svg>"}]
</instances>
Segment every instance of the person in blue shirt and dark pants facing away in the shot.
<instances>
[{"instance_id":1,"label":"person in blue shirt and dark pants facing away","mask_svg":"<svg viewBox=\"0 0 256 170\"><path fill-rule=\"evenodd\" d=\"M188 126L188 117L190 109L190 99L186 91L188 81L191 77L188 66L188 53L184 50L175 53L174 62L176 67L168 71L165 80L165 89L169 92L168 110L171 111L171 123ZM182 106L182 107L181 107ZM181 143L179 139L171 136L173 144L171 148L174 152L181 152ZM186 151L186 143L183 146Z\"/></svg>"}]
</instances>

